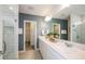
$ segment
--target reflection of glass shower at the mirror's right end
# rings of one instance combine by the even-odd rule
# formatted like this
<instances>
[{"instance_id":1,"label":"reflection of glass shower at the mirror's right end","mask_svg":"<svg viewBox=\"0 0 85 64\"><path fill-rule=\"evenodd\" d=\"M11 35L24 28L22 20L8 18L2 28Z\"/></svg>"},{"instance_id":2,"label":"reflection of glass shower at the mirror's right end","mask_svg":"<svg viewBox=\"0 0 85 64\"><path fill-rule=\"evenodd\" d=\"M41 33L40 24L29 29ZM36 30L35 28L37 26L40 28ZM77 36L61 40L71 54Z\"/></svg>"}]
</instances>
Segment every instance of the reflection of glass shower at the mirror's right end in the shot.
<instances>
[{"instance_id":1,"label":"reflection of glass shower at the mirror's right end","mask_svg":"<svg viewBox=\"0 0 85 64\"><path fill-rule=\"evenodd\" d=\"M85 16L73 14L70 17L71 17L70 40L73 42L85 44Z\"/></svg>"}]
</instances>

